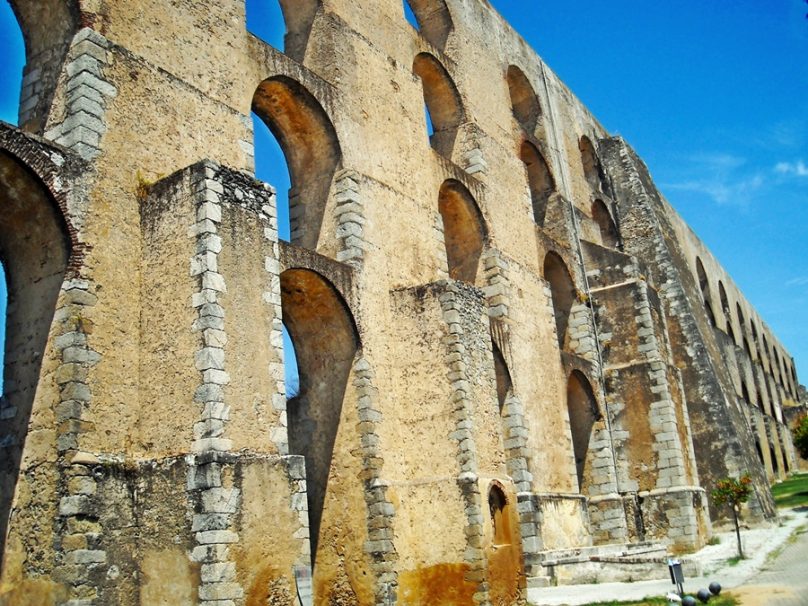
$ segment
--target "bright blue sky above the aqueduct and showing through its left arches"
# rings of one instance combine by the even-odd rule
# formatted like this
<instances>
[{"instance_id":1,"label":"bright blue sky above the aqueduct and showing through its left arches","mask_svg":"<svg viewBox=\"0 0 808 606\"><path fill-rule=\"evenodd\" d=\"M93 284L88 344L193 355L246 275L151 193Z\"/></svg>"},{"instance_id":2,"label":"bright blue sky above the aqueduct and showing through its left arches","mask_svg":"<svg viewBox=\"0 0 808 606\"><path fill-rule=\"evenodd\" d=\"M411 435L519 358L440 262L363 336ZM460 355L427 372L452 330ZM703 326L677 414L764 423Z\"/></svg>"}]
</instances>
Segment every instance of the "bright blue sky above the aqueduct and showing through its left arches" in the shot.
<instances>
[{"instance_id":1,"label":"bright blue sky above the aqueduct and showing through its left arches","mask_svg":"<svg viewBox=\"0 0 808 606\"><path fill-rule=\"evenodd\" d=\"M808 5L490 1L634 146L808 382ZM277 2L248 7L250 29L281 46ZM0 119L14 122L22 43L5 0L0 47ZM256 138L259 177L283 195L277 145L260 125Z\"/></svg>"}]
</instances>

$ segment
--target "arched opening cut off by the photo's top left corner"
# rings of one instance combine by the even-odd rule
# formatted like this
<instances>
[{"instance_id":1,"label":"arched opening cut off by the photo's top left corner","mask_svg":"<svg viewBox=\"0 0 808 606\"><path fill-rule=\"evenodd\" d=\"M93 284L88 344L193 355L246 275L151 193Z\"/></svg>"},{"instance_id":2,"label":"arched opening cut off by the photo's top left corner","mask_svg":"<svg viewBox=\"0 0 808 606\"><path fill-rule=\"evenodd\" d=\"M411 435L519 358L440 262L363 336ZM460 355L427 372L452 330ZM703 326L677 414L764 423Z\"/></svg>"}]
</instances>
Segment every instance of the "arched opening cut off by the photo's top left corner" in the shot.
<instances>
[{"instance_id":1,"label":"arched opening cut off by the photo's top left corner","mask_svg":"<svg viewBox=\"0 0 808 606\"><path fill-rule=\"evenodd\" d=\"M5 4L5 3L3 3ZM19 23L24 40L25 68L22 78L22 93L17 96L15 106L19 108L19 124L26 130L41 133L44 130L48 113L56 90L61 67L67 55L70 41L78 31L79 9L77 0L9 0L14 16ZM7 7L3 7L7 11ZM8 14L8 13L6 13ZM11 22L13 23L13 21ZM9 27L12 27L9 23ZM17 33L11 37L0 37L2 40L19 40ZM17 44L12 48L19 49ZM4 62L12 55L11 50L4 45ZM3 82L14 82L19 78L20 72L16 70L18 59L11 59L8 69L14 69L11 80L2 79ZM9 87L10 88L10 87ZM16 89L12 94L19 93ZM14 112L17 113L16 111ZM9 122L17 123L17 118Z\"/></svg>"}]
</instances>

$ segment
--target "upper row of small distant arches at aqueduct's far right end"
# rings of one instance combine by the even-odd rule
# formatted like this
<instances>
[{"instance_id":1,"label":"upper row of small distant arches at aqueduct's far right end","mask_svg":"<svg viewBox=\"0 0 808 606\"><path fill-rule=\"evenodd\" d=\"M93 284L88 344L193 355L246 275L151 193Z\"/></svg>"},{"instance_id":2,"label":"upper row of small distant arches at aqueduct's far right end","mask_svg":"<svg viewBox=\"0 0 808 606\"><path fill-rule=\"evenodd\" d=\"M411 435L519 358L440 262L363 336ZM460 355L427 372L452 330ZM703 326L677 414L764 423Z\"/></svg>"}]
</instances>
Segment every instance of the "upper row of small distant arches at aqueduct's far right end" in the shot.
<instances>
[{"instance_id":1,"label":"upper row of small distant arches at aqueduct's far right end","mask_svg":"<svg viewBox=\"0 0 808 606\"><path fill-rule=\"evenodd\" d=\"M711 326L725 332L737 347L746 352L753 363L759 364L767 375L796 400L798 394L793 361L770 343L765 332L758 331L755 319L747 322L741 301L735 302L733 310L723 280L717 280L714 286L699 256L695 258L695 277ZM717 302L713 297L714 292L718 293ZM717 314L720 314L720 321Z\"/></svg>"}]
</instances>

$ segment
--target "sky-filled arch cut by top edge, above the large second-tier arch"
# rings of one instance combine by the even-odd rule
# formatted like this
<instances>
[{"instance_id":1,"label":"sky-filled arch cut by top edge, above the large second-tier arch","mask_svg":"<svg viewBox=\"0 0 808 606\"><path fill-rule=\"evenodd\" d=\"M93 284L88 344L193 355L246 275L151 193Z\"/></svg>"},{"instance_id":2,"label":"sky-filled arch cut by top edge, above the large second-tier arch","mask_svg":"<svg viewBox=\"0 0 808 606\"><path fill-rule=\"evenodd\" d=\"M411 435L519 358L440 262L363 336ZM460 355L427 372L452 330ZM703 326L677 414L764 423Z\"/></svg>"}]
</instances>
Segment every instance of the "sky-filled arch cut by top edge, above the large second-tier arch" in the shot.
<instances>
[{"instance_id":1,"label":"sky-filled arch cut by top edge, above the large second-tier arch","mask_svg":"<svg viewBox=\"0 0 808 606\"><path fill-rule=\"evenodd\" d=\"M303 62L320 0L247 1L247 29Z\"/></svg>"}]
</instances>

